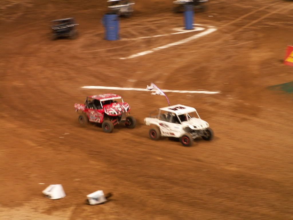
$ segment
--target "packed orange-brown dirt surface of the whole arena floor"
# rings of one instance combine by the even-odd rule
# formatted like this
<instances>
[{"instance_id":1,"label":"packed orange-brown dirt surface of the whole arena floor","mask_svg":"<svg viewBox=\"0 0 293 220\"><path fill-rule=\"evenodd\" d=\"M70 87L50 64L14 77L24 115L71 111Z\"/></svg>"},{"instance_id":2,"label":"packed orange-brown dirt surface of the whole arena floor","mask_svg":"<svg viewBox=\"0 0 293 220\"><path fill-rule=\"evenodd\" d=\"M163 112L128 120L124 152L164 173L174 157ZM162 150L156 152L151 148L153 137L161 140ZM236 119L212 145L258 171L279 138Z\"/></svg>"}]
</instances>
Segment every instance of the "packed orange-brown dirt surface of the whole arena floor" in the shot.
<instances>
[{"instance_id":1,"label":"packed orange-brown dirt surface of the whole arena floor","mask_svg":"<svg viewBox=\"0 0 293 220\"><path fill-rule=\"evenodd\" d=\"M139 0L104 40L105 1L0 1L0 219L293 219L293 97L266 87L293 81L282 63L292 45L293 2L215 0L195 13L217 31L121 60L199 32L183 28L172 1ZM50 40L50 21L75 17L76 40ZM145 36L164 35L154 38ZM134 38L134 39L132 39ZM167 105L145 91L83 86L219 91L166 93L197 109L215 138L149 139L144 117ZM79 126L74 103L115 93L132 108L135 129ZM44 185L40 185L44 183ZM44 197L50 184L67 196ZM103 205L85 204L96 190Z\"/></svg>"}]
</instances>

